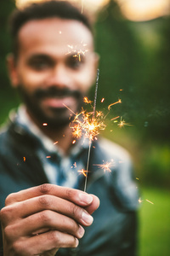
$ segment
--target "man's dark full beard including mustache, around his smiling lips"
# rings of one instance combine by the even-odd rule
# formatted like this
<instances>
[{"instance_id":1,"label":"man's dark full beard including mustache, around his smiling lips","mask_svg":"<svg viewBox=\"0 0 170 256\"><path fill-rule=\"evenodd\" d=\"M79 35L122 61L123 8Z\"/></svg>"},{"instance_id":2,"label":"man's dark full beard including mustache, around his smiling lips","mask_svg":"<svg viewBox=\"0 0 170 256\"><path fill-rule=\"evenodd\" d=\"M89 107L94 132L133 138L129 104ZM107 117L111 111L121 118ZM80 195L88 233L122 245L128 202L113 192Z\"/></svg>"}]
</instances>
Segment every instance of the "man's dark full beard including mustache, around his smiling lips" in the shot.
<instances>
[{"instance_id":1,"label":"man's dark full beard including mustache, around his smiling lips","mask_svg":"<svg viewBox=\"0 0 170 256\"><path fill-rule=\"evenodd\" d=\"M29 94L21 84L18 86L18 90L31 116L41 124L47 123L48 128L52 130L58 130L65 125L69 125L71 120L74 119L74 115L71 114L68 108L52 108L49 106L44 108L42 107L43 100L48 98L57 100L57 98L62 99L71 96L76 102L74 109L71 109L74 113L80 112L83 104L83 96L79 90L59 89L56 86L51 86L47 89L39 88Z\"/></svg>"}]
</instances>

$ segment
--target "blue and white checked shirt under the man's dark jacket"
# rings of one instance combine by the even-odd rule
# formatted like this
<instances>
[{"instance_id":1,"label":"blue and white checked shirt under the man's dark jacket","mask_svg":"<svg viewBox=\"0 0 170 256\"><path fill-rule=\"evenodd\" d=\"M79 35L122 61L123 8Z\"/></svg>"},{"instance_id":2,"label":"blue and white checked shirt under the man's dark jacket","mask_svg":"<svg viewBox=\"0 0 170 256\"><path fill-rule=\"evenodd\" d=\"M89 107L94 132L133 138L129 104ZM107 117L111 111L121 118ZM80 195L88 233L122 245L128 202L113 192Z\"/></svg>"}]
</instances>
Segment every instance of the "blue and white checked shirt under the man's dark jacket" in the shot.
<instances>
[{"instance_id":1,"label":"blue and white checked shirt under the man's dark jacket","mask_svg":"<svg viewBox=\"0 0 170 256\"><path fill-rule=\"evenodd\" d=\"M77 140L71 147L70 154L65 156L56 142L45 136L37 125L33 123L24 105L21 105L18 109L17 122L26 131L37 137L39 142L37 156L42 162L48 182L77 189L83 177L82 173L78 171L85 168L79 155L82 153L82 150L88 150L88 138Z\"/></svg>"}]
</instances>

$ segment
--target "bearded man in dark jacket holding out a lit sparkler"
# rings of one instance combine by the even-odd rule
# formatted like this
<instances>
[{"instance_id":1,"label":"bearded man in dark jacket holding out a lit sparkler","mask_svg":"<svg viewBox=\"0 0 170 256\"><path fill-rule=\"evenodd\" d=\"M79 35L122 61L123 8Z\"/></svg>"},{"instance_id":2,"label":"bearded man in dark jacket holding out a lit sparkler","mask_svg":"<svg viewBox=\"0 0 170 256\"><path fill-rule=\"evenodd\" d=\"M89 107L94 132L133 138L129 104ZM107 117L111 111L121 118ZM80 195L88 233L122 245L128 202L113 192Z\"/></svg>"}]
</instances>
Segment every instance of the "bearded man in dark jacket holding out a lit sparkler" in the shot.
<instances>
[{"instance_id":1,"label":"bearded man in dark jacket holding out a lit sparkler","mask_svg":"<svg viewBox=\"0 0 170 256\"><path fill-rule=\"evenodd\" d=\"M8 70L23 104L0 136L3 255L135 255L138 195L127 152L94 140L88 193L77 172L89 145L72 143L69 124L98 66L88 19L48 1L16 11L10 24ZM105 175L97 165L111 160Z\"/></svg>"}]
</instances>

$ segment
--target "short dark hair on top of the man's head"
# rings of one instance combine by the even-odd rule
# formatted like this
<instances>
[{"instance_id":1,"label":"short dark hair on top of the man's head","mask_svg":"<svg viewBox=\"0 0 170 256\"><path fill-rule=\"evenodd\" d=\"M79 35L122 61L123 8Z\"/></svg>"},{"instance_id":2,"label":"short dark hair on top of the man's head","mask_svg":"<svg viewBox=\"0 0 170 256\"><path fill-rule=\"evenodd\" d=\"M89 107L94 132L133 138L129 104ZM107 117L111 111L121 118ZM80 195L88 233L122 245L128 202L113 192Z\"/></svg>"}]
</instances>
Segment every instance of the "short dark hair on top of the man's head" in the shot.
<instances>
[{"instance_id":1,"label":"short dark hair on top of the man's head","mask_svg":"<svg viewBox=\"0 0 170 256\"><path fill-rule=\"evenodd\" d=\"M43 20L55 17L66 20L78 20L93 32L93 27L88 17L68 1L51 0L31 3L24 9L15 9L9 17L8 27L15 59L17 59L19 51L18 32L20 27L30 20Z\"/></svg>"}]
</instances>

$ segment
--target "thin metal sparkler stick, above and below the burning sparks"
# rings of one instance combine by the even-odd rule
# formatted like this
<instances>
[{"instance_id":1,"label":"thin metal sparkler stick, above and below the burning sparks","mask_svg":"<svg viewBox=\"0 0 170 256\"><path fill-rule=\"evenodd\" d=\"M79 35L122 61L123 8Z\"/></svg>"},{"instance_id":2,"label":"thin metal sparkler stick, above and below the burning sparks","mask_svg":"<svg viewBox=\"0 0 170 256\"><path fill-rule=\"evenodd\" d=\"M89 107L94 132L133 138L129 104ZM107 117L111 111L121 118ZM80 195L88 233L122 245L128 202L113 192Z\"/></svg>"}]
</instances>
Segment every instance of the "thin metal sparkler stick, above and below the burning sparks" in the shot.
<instances>
[{"instance_id":1,"label":"thin metal sparkler stick, above and below the burning sparks","mask_svg":"<svg viewBox=\"0 0 170 256\"><path fill-rule=\"evenodd\" d=\"M98 83L99 83L99 68L97 70L97 78L96 78L96 84L95 84L93 119L95 117L96 101L97 101L97 96L98 96ZM89 166L89 160L90 160L91 146L92 146L92 137L89 137L88 162L87 162L87 166L86 166L87 173L86 173L86 176L85 176L84 192L86 191L87 183L88 183L88 166Z\"/></svg>"}]
</instances>

